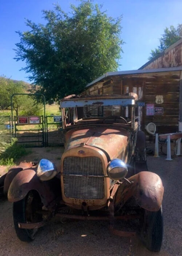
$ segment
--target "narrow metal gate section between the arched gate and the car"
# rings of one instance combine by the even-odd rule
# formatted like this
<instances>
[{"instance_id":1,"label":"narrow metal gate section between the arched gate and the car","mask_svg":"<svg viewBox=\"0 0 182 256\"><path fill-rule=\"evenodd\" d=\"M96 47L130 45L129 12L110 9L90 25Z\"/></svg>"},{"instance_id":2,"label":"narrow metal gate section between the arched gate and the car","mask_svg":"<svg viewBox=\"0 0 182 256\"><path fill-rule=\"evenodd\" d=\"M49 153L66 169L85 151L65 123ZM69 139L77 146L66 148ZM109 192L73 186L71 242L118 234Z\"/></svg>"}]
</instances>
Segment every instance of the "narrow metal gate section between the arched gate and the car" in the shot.
<instances>
[{"instance_id":1,"label":"narrow metal gate section between the arched gate and the car","mask_svg":"<svg viewBox=\"0 0 182 256\"><path fill-rule=\"evenodd\" d=\"M63 129L61 116L46 116L47 146L63 146Z\"/></svg>"}]
</instances>

